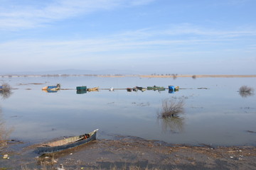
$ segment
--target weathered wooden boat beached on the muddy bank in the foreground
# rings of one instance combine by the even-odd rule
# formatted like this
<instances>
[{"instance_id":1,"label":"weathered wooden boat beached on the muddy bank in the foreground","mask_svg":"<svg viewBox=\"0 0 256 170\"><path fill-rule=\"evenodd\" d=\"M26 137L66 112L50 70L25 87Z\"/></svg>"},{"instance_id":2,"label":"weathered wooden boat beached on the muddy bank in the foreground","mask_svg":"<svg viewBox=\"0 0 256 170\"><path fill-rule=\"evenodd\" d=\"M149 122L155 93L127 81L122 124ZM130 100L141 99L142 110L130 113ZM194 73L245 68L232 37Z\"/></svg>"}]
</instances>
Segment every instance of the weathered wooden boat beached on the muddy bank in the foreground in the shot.
<instances>
[{"instance_id":1,"label":"weathered wooden boat beached on the muddy bank in the foreground","mask_svg":"<svg viewBox=\"0 0 256 170\"><path fill-rule=\"evenodd\" d=\"M53 152L59 152L64 149L68 149L72 147L77 147L78 145L82 145L92 140L96 140L97 130L94 130L85 135L68 137L63 140L57 140L55 142L48 142L46 144L42 144L36 148L35 152L37 152L38 154L48 154Z\"/></svg>"}]
</instances>

